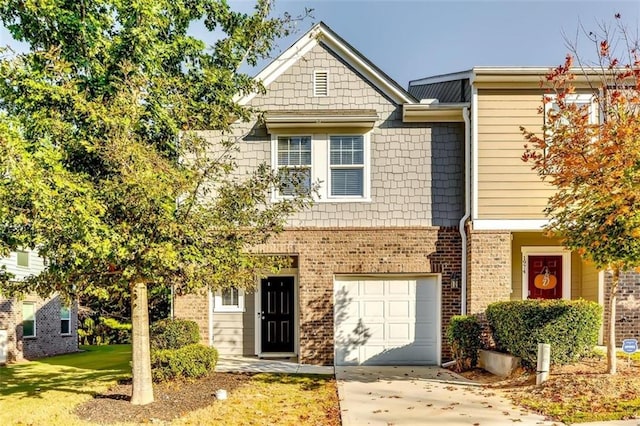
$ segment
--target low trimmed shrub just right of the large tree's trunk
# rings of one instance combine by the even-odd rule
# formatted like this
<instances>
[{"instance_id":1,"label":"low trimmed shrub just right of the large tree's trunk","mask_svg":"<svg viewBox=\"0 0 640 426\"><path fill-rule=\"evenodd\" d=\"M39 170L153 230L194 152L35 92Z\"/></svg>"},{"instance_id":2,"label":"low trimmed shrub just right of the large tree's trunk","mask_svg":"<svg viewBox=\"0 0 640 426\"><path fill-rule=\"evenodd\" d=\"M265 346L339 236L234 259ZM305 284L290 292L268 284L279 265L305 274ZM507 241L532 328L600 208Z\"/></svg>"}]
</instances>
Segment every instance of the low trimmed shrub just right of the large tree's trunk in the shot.
<instances>
[{"instance_id":1,"label":"low trimmed shrub just right of the large tree's trunk","mask_svg":"<svg viewBox=\"0 0 640 426\"><path fill-rule=\"evenodd\" d=\"M177 378L199 378L211 373L218 362L218 351L200 344L180 349L151 351L151 374L155 382Z\"/></svg>"}]
</instances>

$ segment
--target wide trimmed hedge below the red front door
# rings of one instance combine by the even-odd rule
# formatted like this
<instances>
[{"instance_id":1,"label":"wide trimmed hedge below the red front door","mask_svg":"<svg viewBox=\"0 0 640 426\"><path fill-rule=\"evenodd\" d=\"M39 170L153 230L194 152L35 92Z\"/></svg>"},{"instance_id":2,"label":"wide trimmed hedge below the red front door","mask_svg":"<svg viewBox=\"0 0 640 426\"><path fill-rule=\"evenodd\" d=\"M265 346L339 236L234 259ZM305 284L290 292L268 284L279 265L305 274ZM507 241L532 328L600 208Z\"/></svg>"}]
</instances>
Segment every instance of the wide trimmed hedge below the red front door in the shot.
<instances>
[{"instance_id":1,"label":"wide trimmed hedge below the red front door","mask_svg":"<svg viewBox=\"0 0 640 426\"><path fill-rule=\"evenodd\" d=\"M534 367L538 343L551 345L551 364L567 364L591 353L598 342L602 307L586 300L518 300L492 303L487 320L499 351Z\"/></svg>"}]
</instances>

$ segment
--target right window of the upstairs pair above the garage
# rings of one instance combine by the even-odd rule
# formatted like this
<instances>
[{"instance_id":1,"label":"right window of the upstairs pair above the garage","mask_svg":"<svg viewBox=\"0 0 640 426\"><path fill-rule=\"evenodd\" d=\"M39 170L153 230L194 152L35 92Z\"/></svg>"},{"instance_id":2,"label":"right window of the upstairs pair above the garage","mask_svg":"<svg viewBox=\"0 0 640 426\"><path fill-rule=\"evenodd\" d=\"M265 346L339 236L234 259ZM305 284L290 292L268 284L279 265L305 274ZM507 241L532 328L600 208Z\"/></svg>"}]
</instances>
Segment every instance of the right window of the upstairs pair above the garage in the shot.
<instances>
[{"instance_id":1,"label":"right window of the upstairs pair above the garage","mask_svg":"<svg viewBox=\"0 0 640 426\"><path fill-rule=\"evenodd\" d=\"M364 138L331 136L329 164L331 196L364 195Z\"/></svg>"}]
</instances>

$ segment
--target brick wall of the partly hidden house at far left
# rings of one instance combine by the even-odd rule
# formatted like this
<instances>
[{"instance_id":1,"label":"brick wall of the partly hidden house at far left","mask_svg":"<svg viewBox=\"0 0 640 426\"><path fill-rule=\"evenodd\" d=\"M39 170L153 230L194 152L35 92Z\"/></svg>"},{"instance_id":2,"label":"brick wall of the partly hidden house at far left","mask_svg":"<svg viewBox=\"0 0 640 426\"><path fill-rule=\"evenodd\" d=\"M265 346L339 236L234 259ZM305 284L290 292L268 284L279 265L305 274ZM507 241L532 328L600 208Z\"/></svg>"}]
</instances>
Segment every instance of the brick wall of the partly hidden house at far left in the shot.
<instances>
[{"instance_id":1,"label":"brick wall of the partly hidden house at far left","mask_svg":"<svg viewBox=\"0 0 640 426\"><path fill-rule=\"evenodd\" d=\"M42 299L28 295L24 302L34 302L36 308L36 335L22 335L22 303L16 299L0 297L0 330L7 331L7 361L42 358L78 350L78 310L71 309L70 331L61 333L60 308L58 296Z\"/></svg>"}]
</instances>

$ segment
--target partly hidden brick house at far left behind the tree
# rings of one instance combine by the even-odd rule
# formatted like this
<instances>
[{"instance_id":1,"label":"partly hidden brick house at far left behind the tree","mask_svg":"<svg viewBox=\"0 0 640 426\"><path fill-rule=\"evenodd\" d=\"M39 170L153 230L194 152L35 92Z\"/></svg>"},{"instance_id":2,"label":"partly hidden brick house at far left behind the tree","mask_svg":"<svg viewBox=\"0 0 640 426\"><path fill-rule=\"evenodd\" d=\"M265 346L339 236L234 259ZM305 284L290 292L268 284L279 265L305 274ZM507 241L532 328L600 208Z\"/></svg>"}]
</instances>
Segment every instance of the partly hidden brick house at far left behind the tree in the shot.
<instances>
[{"instance_id":1,"label":"partly hidden brick house at far left behind the tree","mask_svg":"<svg viewBox=\"0 0 640 426\"><path fill-rule=\"evenodd\" d=\"M16 280L44 268L42 258L31 251L11 252L0 265ZM77 318L76 307L65 306L58 296L16 299L0 294L0 364L77 351Z\"/></svg>"}]
</instances>

